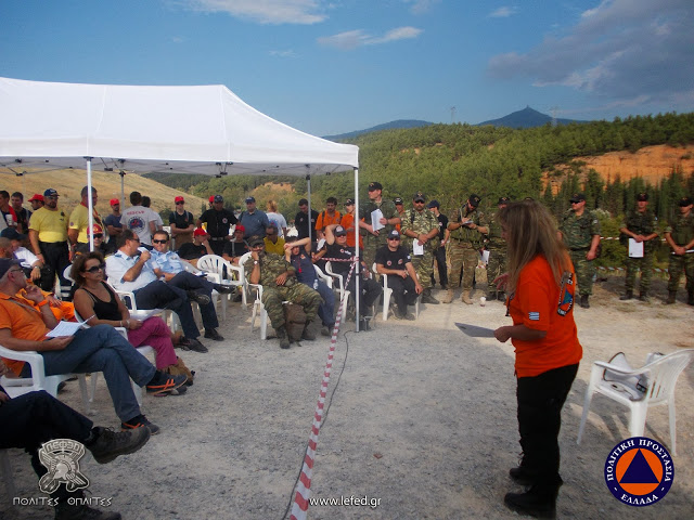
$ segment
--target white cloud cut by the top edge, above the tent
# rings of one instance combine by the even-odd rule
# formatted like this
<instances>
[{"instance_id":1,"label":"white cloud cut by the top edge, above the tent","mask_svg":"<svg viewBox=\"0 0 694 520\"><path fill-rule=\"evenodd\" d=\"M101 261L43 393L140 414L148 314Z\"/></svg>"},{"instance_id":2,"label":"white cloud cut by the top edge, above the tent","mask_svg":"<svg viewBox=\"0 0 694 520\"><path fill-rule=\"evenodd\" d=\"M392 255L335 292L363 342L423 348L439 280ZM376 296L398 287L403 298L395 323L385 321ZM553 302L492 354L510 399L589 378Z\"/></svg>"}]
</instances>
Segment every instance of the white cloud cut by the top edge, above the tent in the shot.
<instances>
[{"instance_id":1,"label":"white cloud cut by the top edge, above the tent","mask_svg":"<svg viewBox=\"0 0 694 520\"><path fill-rule=\"evenodd\" d=\"M228 13L260 24L317 24L327 16L319 0L180 0L195 11Z\"/></svg>"}]
</instances>

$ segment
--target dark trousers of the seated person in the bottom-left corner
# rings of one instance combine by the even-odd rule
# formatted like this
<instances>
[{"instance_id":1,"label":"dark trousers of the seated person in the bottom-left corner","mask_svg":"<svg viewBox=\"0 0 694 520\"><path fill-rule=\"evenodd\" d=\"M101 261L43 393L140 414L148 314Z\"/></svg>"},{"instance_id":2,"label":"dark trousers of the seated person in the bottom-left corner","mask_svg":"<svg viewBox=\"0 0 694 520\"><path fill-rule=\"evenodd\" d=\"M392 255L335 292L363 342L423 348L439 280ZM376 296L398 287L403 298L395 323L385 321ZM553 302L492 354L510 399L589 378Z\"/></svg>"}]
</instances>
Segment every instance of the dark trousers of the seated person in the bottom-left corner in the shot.
<instances>
[{"instance_id":1,"label":"dark trousers of the seated person in the bottom-left corner","mask_svg":"<svg viewBox=\"0 0 694 520\"><path fill-rule=\"evenodd\" d=\"M0 448L24 448L31 455L31 466L39 479L48 471L38 455L42 443L52 439L85 442L92 427L90 419L43 390L25 393L0 405ZM65 484L51 494L61 502L76 495L79 492L69 493Z\"/></svg>"}]
</instances>

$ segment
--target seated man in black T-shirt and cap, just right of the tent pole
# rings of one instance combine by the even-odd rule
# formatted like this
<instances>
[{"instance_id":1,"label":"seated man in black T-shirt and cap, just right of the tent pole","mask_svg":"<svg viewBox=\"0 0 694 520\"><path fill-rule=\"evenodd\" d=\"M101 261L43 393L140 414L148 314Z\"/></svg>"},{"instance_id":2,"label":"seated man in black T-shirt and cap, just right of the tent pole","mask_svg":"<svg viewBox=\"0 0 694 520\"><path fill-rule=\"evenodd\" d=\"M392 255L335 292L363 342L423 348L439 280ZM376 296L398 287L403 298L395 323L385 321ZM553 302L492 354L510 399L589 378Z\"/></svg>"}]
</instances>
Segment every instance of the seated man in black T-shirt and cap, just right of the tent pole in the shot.
<instances>
[{"instance_id":1,"label":"seated man in black T-shirt and cap, just right of the tent pole","mask_svg":"<svg viewBox=\"0 0 694 520\"><path fill-rule=\"evenodd\" d=\"M408 313L408 306L414 304L424 288L412 265L410 252L400 245L400 233L396 230L388 233L388 244L376 251L376 272L388 275L388 287L393 289L396 302L395 317L414 320Z\"/></svg>"}]
</instances>

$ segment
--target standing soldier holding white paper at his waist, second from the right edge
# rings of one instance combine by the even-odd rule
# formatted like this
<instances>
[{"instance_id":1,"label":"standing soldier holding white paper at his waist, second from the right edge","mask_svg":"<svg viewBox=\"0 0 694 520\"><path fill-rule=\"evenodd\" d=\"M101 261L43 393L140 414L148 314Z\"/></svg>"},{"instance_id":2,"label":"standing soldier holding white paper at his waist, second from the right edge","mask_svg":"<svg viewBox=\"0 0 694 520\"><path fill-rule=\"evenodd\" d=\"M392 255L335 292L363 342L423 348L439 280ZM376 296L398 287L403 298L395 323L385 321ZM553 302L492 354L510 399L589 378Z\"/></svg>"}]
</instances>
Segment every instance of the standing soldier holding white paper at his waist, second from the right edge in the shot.
<instances>
[{"instance_id":1,"label":"standing soldier holding white paper at his waist, second from the right edge","mask_svg":"<svg viewBox=\"0 0 694 520\"><path fill-rule=\"evenodd\" d=\"M654 238L658 236L656 231L657 224L657 217L653 211L648 210L648 194L640 193L637 196L637 209L627 213L619 232L624 233L627 238L633 238L639 243L644 243L643 258L631 258L627 256L627 291L619 297L620 300L630 300L633 298L637 271L641 270L641 291L639 299L641 301L648 301L648 288L651 287L651 276L653 274Z\"/></svg>"}]
</instances>

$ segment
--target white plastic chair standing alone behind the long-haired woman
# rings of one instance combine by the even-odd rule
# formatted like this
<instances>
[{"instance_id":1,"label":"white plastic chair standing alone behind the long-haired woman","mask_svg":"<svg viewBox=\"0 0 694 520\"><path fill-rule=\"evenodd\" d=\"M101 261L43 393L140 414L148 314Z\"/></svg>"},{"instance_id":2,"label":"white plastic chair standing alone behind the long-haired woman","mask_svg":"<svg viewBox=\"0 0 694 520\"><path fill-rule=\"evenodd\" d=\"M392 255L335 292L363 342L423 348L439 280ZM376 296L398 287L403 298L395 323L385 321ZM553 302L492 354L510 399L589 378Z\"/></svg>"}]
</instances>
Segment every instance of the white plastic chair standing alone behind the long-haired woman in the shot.
<instances>
[{"instance_id":1,"label":"white plastic chair standing alone behind the long-haired woman","mask_svg":"<svg viewBox=\"0 0 694 520\"><path fill-rule=\"evenodd\" d=\"M679 350L658 358L641 368L634 368L631 370L603 361L594 362L590 374L590 382L586 390L583 415L578 428L578 439L576 440L576 443L580 444L581 442L593 393L602 393L603 395L612 399L613 401L617 401L629 408L629 434L631 437L643 437L648 406L667 405L670 415L670 442L672 454L677 455L674 386L678 377L682 370L684 370L686 365L690 364L693 358L694 349ZM605 381L603 379L603 374L606 368L616 374L647 378L647 389L644 392L643 398L640 400L633 400L633 398L628 393L615 388L611 381Z\"/></svg>"}]
</instances>

